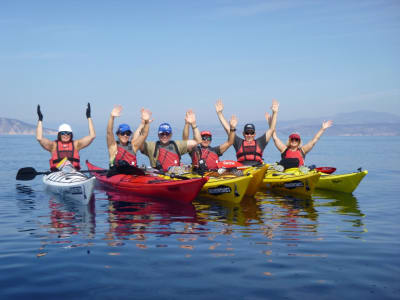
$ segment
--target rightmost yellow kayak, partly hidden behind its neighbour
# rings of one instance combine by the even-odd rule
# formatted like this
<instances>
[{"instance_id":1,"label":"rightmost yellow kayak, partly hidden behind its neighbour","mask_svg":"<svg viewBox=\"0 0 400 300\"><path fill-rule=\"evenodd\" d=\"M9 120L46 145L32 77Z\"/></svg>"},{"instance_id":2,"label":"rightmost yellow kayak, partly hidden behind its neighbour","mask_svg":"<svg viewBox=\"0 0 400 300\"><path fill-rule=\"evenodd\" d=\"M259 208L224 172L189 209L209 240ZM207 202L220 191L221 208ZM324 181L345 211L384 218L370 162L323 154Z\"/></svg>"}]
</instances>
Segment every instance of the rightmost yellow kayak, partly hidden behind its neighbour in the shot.
<instances>
[{"instance_id":1,"label":"rightmost yellow kayak, partly hidden behind its neighbour","mask_svg":"<svg viewBox=\"0 0 400 300\"><path fill-rule=\"evenodd\" d=\"M367 174L367 170L338 175L321 173L317 189L352 193Z\"/></svg>"}]
</instances>

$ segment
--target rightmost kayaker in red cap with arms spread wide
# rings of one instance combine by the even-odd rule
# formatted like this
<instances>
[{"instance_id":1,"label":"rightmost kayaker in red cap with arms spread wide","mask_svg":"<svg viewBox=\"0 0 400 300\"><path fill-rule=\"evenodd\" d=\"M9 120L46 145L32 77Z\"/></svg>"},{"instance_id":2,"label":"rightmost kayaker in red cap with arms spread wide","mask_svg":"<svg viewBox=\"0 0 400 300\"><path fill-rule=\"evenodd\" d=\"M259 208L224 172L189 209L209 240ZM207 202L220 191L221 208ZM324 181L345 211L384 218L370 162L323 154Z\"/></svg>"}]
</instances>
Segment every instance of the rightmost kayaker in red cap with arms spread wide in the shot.
<instances>
[{"instance_id":1,"label":"rightmost kayaker in red cap with arms spread wide","mask_svg":"<svg viewBox=\"0 0 400 300\"><path fill-rule=\"evenodd\" d=\"M317 143L325 130L331 127L332 124L333 122L331 120L322 122L321 129L318 130L313 139L304 146L301 143L301 138L298 133L292 133L291 135L289 135L289 139L285 145L278 138L276 132L274 132L272 138L274 139L276 148L281 152L282 157L282 160L279 162L279 164L282 165L285 169L304 166L304 159L306 154L311 151L311 149Z\"/></svg>"}]
</instances>

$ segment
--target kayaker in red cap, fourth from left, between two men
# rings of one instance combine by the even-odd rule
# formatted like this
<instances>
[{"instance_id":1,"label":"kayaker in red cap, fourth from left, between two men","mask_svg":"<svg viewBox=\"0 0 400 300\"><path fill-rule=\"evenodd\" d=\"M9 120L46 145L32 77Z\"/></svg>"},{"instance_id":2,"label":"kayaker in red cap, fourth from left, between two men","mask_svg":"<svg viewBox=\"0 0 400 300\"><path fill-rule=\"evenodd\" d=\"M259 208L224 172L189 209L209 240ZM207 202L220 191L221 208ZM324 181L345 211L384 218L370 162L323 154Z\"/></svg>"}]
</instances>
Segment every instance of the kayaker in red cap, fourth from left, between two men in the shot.
<instances>
[{"instance_id":1,"label":"kayaker in red cap, fourth from left, between two men","mask_svg":"<svg viewBox=\"0 0 400 300\"><path fill-rule=\"evenodd\" d=\"M212 134L210 131L202 131L200 133L201 143L192 149L190 156L192 157L192 166L194 170L204 172L218 169L219 157L233 145L235 140L235 131L237 125L236 116L232 116L229 122L230 130L228 140L216 147L211 147ZM196 134L193 130L193 136ZM189 139L189 123L185 122L182 134L183 140Z\"/></svg>"}]
</instances>

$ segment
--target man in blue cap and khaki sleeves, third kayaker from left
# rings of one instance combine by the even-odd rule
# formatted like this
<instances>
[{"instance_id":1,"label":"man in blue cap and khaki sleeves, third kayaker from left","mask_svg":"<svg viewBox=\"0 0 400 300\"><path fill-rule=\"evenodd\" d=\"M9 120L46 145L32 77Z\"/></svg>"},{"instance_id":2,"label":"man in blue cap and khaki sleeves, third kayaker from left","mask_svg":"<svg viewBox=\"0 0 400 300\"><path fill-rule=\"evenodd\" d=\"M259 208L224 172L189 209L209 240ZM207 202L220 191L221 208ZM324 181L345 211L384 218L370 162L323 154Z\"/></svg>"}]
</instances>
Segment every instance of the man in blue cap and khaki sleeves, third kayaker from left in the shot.
<instances>
[{"instance_id":1,"label":"man in blue cap and khaki sleeves, third kayaker from left","mask_svg":"<svg viewBox=\"0 0 400 300\"><path fill-rule=\"evenodd\" d=\"M179 166L181 156L193 149L201 142L200 133L196 125L196 118L193 112L189 115L186 114L185 121L192 126L192 129L197 132L195 134L196 140L186 141L173 141L172 128L168 123L161 123L158 127L158 141L157 142L144 142L140 151L148 156L150 165L153 168L166 172L168 168Z\"/></svg>"}]
</instances>

